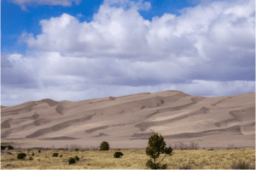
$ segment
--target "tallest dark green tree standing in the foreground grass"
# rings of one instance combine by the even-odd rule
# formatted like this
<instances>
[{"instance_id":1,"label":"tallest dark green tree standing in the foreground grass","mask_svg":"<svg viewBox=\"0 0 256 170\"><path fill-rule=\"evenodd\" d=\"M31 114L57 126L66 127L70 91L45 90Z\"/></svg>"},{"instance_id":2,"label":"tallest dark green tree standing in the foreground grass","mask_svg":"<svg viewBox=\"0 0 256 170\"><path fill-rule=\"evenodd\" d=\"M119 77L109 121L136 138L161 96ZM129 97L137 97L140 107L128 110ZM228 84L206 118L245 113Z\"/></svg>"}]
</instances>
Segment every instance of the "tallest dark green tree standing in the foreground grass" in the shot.
<instances>
[{"instance_id":1,"label":"tallest dark green tree standing in the foreground grass","mask_svg":"<svg viewBox=\"0 0 256 170\"><path fill-rule=\"evenodd\" d=\"M159 158L160 153L165 153L166 155L172 156L172 148L165 148L166 142L164 141L164 137L162 137L161 135L159 136L158 133L155 133L150 138L148 138L148 144L149 145L146 148L146 154L154 159L154 163L151 159L149 159L146 163L146 166L150 167L151 169L166 169L167 163L160 167L160 162L155 163L155 159ZM164 158L166 157L166 155L164 156ZM162 159L162 161L164 160L164 158Z\"/></svg>"}]
</instances>

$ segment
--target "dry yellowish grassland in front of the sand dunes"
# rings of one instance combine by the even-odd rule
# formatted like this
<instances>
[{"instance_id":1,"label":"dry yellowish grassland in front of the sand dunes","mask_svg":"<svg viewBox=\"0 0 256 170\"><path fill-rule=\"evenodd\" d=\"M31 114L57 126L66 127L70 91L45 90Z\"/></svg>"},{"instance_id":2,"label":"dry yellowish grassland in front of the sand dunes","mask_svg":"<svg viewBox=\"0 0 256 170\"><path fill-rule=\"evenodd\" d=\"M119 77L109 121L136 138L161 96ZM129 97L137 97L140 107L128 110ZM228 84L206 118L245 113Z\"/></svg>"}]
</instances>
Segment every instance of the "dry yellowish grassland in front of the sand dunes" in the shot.
<instances>
[{"instance_id":1,"label":"dry yellowish grassland in front of the sand dunes","mask_svg":"<svg viewBox=\"0 0 256 170\"><path fill-rule=\"evenodd\" d=\"M197 144L178 148L172 147L172 156L160 154L156 162L167 163L167 169L255 169L255 149L199 150ZM79 149L78 151L75 149ZM186 150L183 150L186 149ZM30 151L29 151L30 150ZM119 150L124 156L114 158L116 150L99 150L71 146L69 150L23 149L20 152L1 156L2 169L150 169L146 167L149 156L145 150ZM43 151L44 150L44 151ZM19 153L26 153L24 160L18 160ZM32 153L34 156L32 156ZM58 153L58 156L53 156ZM69 157L79 157L70 164ZM31 159L29 159L31 157Z\"/></svg>"}]
</instances>

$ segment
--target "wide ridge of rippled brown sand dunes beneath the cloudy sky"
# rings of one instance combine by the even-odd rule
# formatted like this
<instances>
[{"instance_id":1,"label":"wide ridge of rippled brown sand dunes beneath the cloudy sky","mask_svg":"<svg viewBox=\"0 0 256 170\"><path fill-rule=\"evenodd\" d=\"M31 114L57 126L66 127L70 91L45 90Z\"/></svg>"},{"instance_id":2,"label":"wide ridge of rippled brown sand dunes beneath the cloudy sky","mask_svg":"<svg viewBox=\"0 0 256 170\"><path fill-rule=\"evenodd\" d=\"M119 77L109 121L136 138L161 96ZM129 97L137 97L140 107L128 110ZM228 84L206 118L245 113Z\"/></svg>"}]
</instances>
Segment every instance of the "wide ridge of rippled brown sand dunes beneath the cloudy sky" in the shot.
<instances>
[{"instance_id":1,"label":"wide ridge of rippled brown sand dunes beneath the cloudy sky","mask_svg":"<svg viewBox=\"0 0 256 170\"><path fill-rule=\"evenodd\" d=\"M255 93L205 98L168 90L78 102L42 99L1 106L1 112L2 141L37 141L32 147L108 141L112 148L142 148L154 133L167 145L193 140L206 148L255 147Z\"/></svg>"}]
</instances>

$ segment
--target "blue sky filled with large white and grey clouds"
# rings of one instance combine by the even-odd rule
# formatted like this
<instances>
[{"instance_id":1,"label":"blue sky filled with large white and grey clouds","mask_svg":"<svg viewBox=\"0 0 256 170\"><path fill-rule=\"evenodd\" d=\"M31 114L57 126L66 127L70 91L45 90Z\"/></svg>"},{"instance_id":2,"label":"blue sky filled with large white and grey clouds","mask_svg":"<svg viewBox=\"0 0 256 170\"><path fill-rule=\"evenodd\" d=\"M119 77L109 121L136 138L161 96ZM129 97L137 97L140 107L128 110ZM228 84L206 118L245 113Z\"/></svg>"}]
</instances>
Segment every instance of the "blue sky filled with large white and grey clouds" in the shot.
<instances>
[{"instance_id":1,"label":"blue sky filled with large white and grey clouds","mask_svg":"<svg viewBox=\"0 0 256 170\"><path fill-rule=\"evenodd\" d=\"M1 105L255 92L253 0L2 0Z\"/></svg>"}]
</instances>

